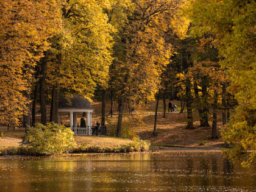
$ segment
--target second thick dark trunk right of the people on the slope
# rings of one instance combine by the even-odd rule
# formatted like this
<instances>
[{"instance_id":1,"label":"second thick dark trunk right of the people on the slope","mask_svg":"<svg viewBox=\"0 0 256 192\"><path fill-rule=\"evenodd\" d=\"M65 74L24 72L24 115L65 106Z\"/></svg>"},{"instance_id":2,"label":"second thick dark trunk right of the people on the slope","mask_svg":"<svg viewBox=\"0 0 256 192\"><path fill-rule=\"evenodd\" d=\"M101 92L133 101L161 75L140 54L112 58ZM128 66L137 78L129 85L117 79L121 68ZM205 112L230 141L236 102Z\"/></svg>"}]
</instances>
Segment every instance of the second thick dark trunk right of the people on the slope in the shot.
<instances>
[{"instance_id":1,"label":"second thick dark trunk right of the people on the slope","mask_svg":"<svg viewBox=\"0 0 256 192\"><path fill-rule=\"evenodd\" d=\"M202 84L202 98L203 98L203 109L202 109L202 126L204 127L210 127L210 124L208 122L208 93L207 93L207 85L205 83Z\"/></svg>"}]
</instances>

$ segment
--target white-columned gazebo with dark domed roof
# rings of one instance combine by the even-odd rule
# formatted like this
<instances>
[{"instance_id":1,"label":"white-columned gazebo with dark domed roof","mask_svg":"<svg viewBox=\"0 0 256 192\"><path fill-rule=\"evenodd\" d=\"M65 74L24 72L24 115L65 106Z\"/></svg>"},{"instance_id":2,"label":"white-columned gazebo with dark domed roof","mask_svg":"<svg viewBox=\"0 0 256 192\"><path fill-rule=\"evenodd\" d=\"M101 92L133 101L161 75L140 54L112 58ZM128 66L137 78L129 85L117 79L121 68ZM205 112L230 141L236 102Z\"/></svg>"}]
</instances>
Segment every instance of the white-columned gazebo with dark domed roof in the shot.
<instances>
[{"instance_id":1,"label":"white-columned gazebo with dark domed roof","mask_svg":"<svg viewBox=\"0 0 256 192\"><path fill-rule=\"evenodd\" d=\"M75 135L91 135L91 113L93 108L90 102L80 96L74 98L63 98L59 101L59 113L69 113L70 127L74 131ZM77 126L77 114L87 113L87 127Z\"/></svg>"}]
</instances>

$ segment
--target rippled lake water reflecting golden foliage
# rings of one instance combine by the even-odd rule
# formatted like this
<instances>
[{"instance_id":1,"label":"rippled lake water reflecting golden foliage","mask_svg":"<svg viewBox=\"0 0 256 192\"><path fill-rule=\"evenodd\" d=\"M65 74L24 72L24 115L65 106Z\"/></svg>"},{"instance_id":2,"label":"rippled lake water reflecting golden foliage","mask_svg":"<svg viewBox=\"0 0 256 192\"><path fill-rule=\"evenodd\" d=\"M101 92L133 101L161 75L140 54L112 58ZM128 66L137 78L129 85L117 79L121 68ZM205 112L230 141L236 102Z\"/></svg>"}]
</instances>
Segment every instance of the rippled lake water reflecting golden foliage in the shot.
<instances>
[{"instance_id":1,"label":"rippled lake water reflecting golden foliage","mask_svg":"<svg viewBox=\"0 0 256 192\"><path fill-rule=\"evenodd\" d=\"M0 191L256 191L256 165L197 151L3 160Z\"/></svg>"}]
</instances>

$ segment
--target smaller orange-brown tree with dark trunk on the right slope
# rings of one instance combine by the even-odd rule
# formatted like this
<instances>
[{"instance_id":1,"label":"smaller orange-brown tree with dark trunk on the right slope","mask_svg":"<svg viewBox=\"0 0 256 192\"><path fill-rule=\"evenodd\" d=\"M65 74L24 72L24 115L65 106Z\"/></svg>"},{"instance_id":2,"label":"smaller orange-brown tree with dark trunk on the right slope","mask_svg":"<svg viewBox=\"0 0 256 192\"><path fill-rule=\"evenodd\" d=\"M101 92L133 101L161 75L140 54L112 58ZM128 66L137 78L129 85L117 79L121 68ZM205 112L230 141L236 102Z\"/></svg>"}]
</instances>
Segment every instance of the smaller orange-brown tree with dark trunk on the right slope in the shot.
<instances>
[{"instance_id":1,"label":"smaller orange-brown tree with dark trunk on the right slope","mask_svg":"<svg viewBox=\"0 0 256 192\"><path fill-rule=\"evenodd\" d=\"M219 82L224 82L222 73L216 73L219 69L219 53L213 46L214 37L202 37L193 51L194 66L190 69L193 76L193 88L195 96L195 105L199 113L200 126L210 127L208 123L208 115L213 93L211 91L218 90ZM212 94L211 94L212 93ZM216 92L217 93L217 92Z\"/></svg>"}]
</instances>

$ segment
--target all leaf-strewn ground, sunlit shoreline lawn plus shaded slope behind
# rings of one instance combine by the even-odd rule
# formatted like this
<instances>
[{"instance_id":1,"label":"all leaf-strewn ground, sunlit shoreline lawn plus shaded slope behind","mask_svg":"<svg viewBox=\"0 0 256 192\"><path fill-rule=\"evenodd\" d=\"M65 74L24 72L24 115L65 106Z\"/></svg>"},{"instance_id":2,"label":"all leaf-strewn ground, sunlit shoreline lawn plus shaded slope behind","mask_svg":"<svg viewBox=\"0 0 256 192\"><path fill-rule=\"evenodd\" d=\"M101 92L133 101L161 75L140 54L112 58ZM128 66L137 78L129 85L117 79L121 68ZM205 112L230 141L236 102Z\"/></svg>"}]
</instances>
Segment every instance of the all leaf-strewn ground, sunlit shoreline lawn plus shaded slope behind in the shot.
<instances>
[{"instance_id":1,"label":"all leaf-strewn ground, sunlit shoreline lawn plus shaded slope behind","mask_svg":"<svg viewBox=\"0 0 256 192\"><path fill-rule=\"evenodd\" d=\"M110 102L106 102L106 112L110 111ZM180 107L179 101L174 101L174 104ZM101 116L95 113L101 112L101 102L94 102L93 123L100 121ZM193 113L194 130L187 130L187 113L172 112L166 113L166 118L163 118L163 102L160 101L159 112L157 118L157 133L154 137L152 131L154 128L154 108L155 102L149 102L148 108L140 108L132 115L124 115L123 118L123 132L129 132L128 135L132 137L139 136L143 140L148 140L152 145L157 146L187 146L187 147L209 147L216 148L222 147L224 141L219 138L218 140L211 139L212 127L200 127L199 116L196 110ZM126 111L127 112L127 111ZM115 114L117 114L117 104L115 104ZM62 119L63 122L69 123L69 118L66 116ZM87 143L88 146L116 146L130 142L130 140L123 138L116 138L116 124L118 116L106 116L106 126L108 137L75 137L78 145ZM218 113L218 136L220 137L219 130L222 127L221 112ZM80 121L79 121L80 122ZM209 123L212 126L212 116L209 116ZM0 131L1 132L1 131ZM17 146L21 141L24 132L19 131L4 131L4 137L0 137L0 146Z\"/></svg>"}]
</instances>

